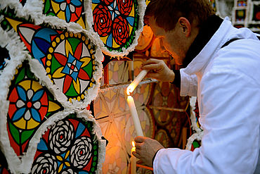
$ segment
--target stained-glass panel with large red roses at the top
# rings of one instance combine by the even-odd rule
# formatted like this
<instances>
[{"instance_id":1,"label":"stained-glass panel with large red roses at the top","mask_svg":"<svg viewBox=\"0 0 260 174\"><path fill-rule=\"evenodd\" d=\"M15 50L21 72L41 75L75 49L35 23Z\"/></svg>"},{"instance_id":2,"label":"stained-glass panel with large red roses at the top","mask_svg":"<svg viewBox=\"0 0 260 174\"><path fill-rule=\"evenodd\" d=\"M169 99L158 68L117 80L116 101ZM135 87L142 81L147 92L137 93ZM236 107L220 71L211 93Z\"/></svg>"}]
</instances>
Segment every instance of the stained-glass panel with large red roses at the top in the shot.
<instances>
[{"instance_id":1,"label":"stained-glass panel with large red roses at the top","mask_svg":"<svg viewBox=\"0 0 260 174\"><path fill-rule=\"evenodd\" d=\"M109 51L127 49L138 30L137 0L93 0L93 30Z\"/></svg>"}]
</instances>

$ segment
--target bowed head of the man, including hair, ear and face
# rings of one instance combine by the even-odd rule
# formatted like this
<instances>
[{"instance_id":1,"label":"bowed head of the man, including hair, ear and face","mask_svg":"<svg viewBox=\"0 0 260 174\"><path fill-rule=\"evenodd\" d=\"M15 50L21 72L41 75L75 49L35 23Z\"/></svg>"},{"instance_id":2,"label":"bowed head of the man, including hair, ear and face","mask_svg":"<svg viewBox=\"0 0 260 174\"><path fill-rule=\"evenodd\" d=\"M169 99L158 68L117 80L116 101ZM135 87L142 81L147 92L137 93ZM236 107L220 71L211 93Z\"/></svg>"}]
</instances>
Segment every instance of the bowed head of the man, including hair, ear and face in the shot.
<instances>
[{"instance_id":1,"label":"bowed head of the man, including hair, ear and face","mask_svg":"<svg viewBox=\"0 0 260 174\"><path fill-rule=\"evenodd\" d=\"M145 23L177 64L194 41L200 26L213 15L209 0L151 0L145 11Z\"/></svg>"}]
</instances>

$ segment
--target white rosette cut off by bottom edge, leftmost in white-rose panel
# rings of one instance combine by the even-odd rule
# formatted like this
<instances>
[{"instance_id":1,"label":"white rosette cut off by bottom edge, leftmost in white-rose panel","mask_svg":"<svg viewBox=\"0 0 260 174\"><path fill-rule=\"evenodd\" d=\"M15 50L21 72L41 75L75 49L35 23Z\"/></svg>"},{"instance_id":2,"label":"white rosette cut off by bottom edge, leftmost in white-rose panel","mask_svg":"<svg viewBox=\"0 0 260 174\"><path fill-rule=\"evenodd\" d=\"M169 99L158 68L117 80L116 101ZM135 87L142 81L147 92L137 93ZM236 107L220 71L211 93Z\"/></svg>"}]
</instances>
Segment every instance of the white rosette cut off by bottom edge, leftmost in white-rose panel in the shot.
<instances>
[{"instance_id":1,"label":"white rosette cut off by bottom edge, leftmost in white-rose panel","mask_svg":"<svg viewBox=\"0 0 260 174\"><path fill-rule=\"evenodd\" d=\"M32 174L54 174L58 168L56 158L51 154L41 154L34 161L32 167Z\"/></svg>"}]
</instances>

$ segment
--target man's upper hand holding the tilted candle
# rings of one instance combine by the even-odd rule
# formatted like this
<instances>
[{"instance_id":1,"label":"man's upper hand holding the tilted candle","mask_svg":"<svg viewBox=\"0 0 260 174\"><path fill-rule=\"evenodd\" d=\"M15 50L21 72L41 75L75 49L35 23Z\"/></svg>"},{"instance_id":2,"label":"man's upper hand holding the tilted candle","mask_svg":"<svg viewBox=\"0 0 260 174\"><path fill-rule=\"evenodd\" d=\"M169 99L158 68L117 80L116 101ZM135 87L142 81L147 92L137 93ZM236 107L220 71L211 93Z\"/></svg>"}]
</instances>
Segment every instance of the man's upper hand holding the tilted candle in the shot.
<instances>
[{"instance_id":1,"label":"man's upper hand holding the tilted candle","mask_svg":"<svg viewBox=\"0 0 260 174\"><path fill-rule=\"evenodd\" d=\"M173 82L175 74L162 60L150 58L143 63L142 70L149 70L146 77L152 77L162 82Z\"/></svg>"}]
</instances>

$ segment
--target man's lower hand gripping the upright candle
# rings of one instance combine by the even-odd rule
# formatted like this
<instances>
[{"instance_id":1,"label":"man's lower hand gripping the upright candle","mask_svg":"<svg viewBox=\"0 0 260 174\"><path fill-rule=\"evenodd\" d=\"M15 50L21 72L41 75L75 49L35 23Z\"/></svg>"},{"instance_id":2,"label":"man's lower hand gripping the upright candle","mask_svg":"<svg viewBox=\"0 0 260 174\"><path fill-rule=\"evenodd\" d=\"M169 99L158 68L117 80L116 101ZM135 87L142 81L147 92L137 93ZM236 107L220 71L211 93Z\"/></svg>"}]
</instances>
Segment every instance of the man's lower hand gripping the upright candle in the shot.
<instances>
[{"instance_id":1,"label":"man's lower hand gripping the upright candle","mask_svg":"<svg viewBox=\"0 0 260 174\"><path fill-rule=\"evenodd\" d=\"M133 155L152 167L152 157L158 150L164 149L162 144L148 137L136 137L134 141L136 142L136 151L133 152Z\"/></svg>"}]
</instances>

